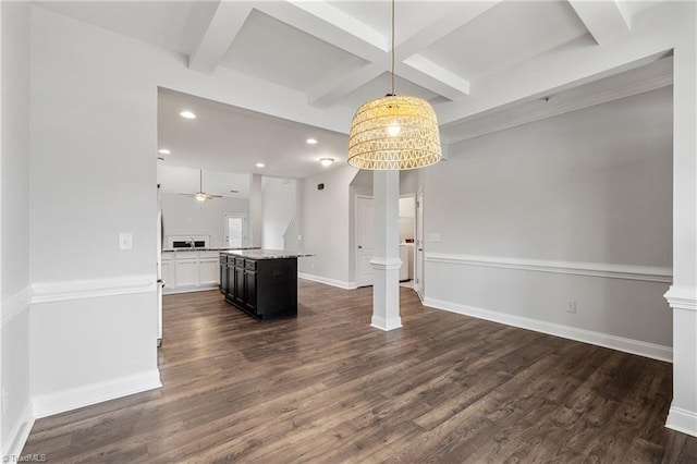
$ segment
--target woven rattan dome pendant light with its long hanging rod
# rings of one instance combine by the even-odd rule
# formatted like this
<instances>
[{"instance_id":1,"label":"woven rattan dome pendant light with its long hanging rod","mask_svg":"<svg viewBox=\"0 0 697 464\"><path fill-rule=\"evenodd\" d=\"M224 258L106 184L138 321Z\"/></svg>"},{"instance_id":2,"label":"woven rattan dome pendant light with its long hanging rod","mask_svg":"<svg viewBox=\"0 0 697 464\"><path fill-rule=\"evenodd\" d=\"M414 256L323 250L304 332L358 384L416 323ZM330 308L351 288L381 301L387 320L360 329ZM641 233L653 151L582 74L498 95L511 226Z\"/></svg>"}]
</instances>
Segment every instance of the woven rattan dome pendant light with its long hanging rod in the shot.
<instances>
[{"instance_id":1,"label":"woven rattan dome pendant light with its long hanging rod","mask_svg":"<svg viewBox=\"0 0 697 464\"><path fill-rule=\"evenodd\" d=\"M441 160L436 111L418 97L394 94L394 0L392 93L362 105L351 121L348 164L369 170L407 170Z\"/></svg>"}]
</instances>

